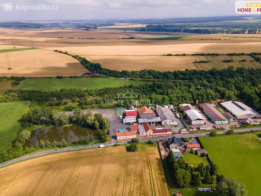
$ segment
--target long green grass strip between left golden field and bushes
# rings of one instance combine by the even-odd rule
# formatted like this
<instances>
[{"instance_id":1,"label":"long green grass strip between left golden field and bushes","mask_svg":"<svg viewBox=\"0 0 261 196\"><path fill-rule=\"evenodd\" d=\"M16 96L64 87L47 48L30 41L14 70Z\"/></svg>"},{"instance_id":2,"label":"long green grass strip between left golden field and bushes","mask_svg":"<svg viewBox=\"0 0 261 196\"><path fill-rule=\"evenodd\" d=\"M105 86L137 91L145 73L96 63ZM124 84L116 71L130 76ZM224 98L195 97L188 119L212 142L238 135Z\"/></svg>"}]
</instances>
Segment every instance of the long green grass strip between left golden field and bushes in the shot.
<instances>
[{"instance_id":1,"label":"long green grass strip between left golden field and bushes","mask_svg":"<svg viewBox=\"0 0 261 196\"><path fill-rule=\"evenodd\" d=\"M96 89L106 87L121 87L125 85L121 78L36 78L26 79L18 88L21 90L60 90Z\"/></svg>"}]
</instances>

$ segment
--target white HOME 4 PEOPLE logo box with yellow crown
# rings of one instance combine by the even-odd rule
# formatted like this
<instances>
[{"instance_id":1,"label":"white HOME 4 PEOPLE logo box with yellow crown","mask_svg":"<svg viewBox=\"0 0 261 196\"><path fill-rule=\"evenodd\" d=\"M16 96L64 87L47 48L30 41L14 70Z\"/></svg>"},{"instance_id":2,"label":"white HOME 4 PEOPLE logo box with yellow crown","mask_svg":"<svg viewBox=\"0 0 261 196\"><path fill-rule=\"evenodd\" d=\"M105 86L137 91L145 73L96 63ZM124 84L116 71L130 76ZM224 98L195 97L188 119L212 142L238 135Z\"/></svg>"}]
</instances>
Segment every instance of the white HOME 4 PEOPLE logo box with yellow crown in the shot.
<instances>
[{"instance_id":1,"label":"white HOME 4 PEOPLE logo box with yellow crown","mask_svg":"<svg viewBox=\"0 0 261 196\"><path fill-rule=\"evenodd\" d=\"M236 1L235 13L261 14L261 1Z\"/></svg>"}]
</instances>

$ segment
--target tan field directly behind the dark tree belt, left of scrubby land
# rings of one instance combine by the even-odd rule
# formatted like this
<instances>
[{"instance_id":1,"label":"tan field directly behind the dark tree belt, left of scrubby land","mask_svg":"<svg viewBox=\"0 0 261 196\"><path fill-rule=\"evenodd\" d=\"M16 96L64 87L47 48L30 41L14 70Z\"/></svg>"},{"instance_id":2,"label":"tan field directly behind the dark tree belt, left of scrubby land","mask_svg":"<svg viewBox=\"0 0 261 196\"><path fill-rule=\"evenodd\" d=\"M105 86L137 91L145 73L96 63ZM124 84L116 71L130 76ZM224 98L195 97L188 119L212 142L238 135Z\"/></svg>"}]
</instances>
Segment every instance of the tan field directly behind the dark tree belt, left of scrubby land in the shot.
<instances>
[{"instance_id":1,"label":"tan field directly behind the dark tree belt, left of scrubby land","mask_svg":"<svg viewBox=\"0 0 261 196\"><path fill-rule=\"evenodd\" d=\"M206 60L204 56L84 56L102 67L118 71L139 71L154 69L158 71L175 71L197 69L195 60Z\"/></svg>"}]
</instances>

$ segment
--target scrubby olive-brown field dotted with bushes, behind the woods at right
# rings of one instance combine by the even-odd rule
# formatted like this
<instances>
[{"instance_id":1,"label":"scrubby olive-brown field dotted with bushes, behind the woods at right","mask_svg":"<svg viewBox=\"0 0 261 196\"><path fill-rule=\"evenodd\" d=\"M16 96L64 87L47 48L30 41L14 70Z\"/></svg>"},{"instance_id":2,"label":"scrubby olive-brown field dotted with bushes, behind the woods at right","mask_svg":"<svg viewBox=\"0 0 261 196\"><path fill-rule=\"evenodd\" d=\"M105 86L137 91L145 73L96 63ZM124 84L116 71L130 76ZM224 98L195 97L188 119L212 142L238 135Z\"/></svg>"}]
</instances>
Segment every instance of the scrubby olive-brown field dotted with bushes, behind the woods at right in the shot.
<instances>
[{"instance_id":1,"label":"scrubby olive-brown field dotted with bushes, behind the woods at right","mask_svg":"<svg viewBox=\"0 0 261 196\"><path fill-rule=\"evenodd\" d=\"M205 56L205 58L209 61L209 63L194 63L197 69L210 70L213 68L216 69L224 69L229 66L233 67L245 67L245 68L260 68L261 64L251 56L241 55L241 56L227 56L227 55L219 55L219 56ZM233 62L224 63L223 60L233 59ZM242 62L241 60L246 59L246 62ZM253 62L251 62L253 61Z\"/></svg>"}]
</instances>

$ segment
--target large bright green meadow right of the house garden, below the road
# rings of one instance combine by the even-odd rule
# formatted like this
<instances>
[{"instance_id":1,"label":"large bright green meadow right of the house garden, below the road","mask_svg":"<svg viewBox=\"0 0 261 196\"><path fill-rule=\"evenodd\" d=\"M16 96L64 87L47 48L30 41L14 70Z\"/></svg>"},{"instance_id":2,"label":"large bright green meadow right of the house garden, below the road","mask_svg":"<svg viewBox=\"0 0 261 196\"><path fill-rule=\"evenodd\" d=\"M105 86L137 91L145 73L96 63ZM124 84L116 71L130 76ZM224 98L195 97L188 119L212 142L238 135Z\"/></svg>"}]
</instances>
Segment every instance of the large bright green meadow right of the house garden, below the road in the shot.
<instances>
[{"instance_id":1,"label":"large bright green meadow right of the house garden, below the road","mask_svg":"<svg viewBox=\"0 0 261 196\"><path fill-rule=\"evenodd\" d=\"M219 174L243 183L248 195L261 195L260 132L224 137L203 137L201 143L219 166Z\"/></svg>"}]
</instances>

